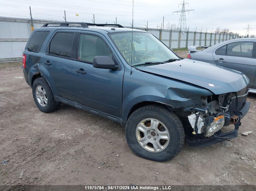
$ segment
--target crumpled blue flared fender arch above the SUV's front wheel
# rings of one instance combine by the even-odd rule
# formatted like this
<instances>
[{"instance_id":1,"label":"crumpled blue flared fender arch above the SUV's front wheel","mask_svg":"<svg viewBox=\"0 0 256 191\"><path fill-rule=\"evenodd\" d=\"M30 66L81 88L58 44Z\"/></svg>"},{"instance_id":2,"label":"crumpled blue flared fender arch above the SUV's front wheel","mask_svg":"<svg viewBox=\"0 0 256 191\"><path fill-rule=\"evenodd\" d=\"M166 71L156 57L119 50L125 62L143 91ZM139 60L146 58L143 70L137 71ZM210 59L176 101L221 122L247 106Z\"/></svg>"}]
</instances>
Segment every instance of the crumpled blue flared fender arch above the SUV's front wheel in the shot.
<instances>
[{"instance_id":1,"label":"crumpled blue flared fender arch above the SUV's front wheel","mask_svg":"<svg viewBox=\"0 0 256 191\"><path fill-rule=\"evenodd\" d=\"M128 118L132 107L141 102L158 102L169 105L173 108L181 108L185 110L188 107L193 107L196 105L201 106L203 104L201 96L209 96L213 94L212 92L203 88L195 88L194 86L190 86L188 84L185 86L187 86L187 88L185 88L184 84L182 84L179 88L141 86L135 89L123 102L123 106L126 106L125 109L122 110L123 120Z\"/></svg>"}]
</instances>

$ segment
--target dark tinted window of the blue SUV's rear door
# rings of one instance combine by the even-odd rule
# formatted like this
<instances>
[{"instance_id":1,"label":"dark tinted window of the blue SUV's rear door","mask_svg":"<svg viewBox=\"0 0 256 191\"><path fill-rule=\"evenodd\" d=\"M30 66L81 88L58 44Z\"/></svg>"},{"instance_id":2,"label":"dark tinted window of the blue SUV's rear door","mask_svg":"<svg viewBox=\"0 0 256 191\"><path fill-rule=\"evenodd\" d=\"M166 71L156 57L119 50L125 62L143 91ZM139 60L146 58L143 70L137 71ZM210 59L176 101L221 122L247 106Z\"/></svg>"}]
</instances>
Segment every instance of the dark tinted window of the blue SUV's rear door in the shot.
<instances>
[{"instance_id":1,"label":"dark tinted window of the blue SUV's rear door","mask_svg":"<svg viewBox=\"0 0 256 191\"><path fill-rule=\"evenodd\" d=\"M49 54L71 58L74 33L56 33L50 43Z\"/></svg>"}]
</instances>

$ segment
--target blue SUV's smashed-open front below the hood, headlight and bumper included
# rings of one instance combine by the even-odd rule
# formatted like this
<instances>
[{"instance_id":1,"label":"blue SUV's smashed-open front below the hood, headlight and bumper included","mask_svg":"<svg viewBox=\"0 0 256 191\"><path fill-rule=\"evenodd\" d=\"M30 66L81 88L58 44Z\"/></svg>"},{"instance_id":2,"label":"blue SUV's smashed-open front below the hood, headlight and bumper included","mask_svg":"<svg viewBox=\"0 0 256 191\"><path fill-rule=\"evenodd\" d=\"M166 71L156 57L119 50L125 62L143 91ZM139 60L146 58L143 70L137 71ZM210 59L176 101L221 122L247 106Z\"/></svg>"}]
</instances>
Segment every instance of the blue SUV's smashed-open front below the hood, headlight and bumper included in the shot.
<instances>
[{"instance_id":1,"label":"blue SUV's smashed-open front below the hood, headlight and bumper included","mask_svg":"<svg viewBox=\"0 0 256 191\"><path fill-rule=\"evenodd\" d=\"M183 113L189 145L203 147L237 137L240 120L250 107L250 102L246 101L247 96L248 86L238 92L203 97L202 105L184 109L185 113L190 113L187 119ZM223 133L222 128L229 125L234 125L234 130Z\"/></svg>"}]
</instances>

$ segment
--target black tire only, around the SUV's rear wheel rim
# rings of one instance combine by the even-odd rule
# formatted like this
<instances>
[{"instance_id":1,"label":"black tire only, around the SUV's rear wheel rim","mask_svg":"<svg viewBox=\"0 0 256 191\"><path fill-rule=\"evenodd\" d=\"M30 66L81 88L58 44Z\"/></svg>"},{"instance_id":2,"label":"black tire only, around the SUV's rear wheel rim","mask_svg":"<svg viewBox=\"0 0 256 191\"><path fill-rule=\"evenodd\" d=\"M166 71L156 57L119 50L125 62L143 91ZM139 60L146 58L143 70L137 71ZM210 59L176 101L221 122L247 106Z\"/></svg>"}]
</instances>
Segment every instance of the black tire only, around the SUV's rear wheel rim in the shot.
<instances>
[{"instance_id":1,"label":"black tire only, around the SUV's rear wheel rim","mask_svg":"<svg viewBox=\"0 0 256 191\"><path fill-rule=\"evenodd\" d=\"M45 106L41 106L40 103L37 100L36 97L36 87L40 85L45 89L46 95L47 95L47 104ZM58 109L59 103L55 101L52 90L48 84L48 82L45 80L45 78L36 78L33 87L32 87L32 93L34 97L35 104L37 105L38 109L45 113L50 113Z\"/></svg>"}]
</instances>

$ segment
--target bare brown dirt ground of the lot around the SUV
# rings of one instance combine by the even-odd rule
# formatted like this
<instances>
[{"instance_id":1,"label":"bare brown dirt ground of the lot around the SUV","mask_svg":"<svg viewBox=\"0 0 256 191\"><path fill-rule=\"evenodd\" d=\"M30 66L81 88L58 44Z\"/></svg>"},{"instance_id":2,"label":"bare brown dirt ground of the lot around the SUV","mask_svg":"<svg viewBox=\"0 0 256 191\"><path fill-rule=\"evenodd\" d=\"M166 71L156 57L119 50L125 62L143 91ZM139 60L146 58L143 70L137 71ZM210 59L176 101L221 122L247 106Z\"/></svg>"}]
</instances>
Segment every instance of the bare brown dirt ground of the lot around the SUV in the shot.
<instances>
[{"instance_id":1,"label":"bare brown dirt ground of the lot around the SUV","mask_svg":"<svg viewBox=\"0 0 256 191\"><path fill-rule=\"evenodd\" d=\"M249 94L251 108L231 147L194 148L185 142L177 157L159 163L133 154L118 123L64 104L41 112L25 79L14 78L20 76L21 63L0 64L0 185L256 183L255 94ZM253 133L241 135L245 131ZM227 172L230 176L216 180Z\"/></svg>"}]
</instances>

